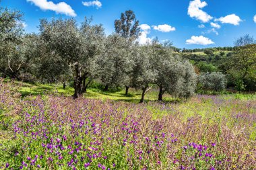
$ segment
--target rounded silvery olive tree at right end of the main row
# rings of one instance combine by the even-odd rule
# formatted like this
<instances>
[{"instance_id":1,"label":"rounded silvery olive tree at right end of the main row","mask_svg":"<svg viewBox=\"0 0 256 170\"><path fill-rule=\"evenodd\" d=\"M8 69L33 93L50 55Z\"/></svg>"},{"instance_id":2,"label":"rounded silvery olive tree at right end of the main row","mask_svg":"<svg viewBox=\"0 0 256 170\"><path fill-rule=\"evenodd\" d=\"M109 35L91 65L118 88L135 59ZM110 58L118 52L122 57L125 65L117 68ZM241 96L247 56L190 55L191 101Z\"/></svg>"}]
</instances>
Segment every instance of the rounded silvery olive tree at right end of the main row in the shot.
<instances>
[{"instance_id":1,"label":"rounded silvery olive tree at right end of the main row","mask_svg":"<svg viewBox=\"0 0 256 170\"><path fill-rule=\"evenodd\" d=\"M173 55L172 43L152 43L150 61L157 71L156 85L159 87L158 100L169 93L176 97L190 97L195 91L196 75L193 66L178 55Z\"/></svg>"}]
</instances>

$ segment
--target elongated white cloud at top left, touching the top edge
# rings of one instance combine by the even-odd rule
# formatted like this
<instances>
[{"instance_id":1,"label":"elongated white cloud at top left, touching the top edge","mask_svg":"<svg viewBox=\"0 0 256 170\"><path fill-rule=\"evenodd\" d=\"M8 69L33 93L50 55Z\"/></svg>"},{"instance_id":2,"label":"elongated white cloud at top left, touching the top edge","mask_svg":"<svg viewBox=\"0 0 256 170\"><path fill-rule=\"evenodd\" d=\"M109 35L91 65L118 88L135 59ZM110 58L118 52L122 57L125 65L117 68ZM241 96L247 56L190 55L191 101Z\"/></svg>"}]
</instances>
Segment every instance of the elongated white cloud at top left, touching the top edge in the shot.
<instances>
[{"instance_id":1,"label":"elongated white cloud at top left, touching the top edge","mask_svg":"<svg viewBox=\"0 0 256 170\"><path fill-rule=\"evenodd\" d=\"M47 0L27 0L28 2L34 3L34 5L40 7L42 10L51 10L56 13L63 13L65 15L69 15L71 17L75 17L75 11L72 9L70 5L67 5L65 2L53 3L53 1Z\"/></svg>"}]
</instances>

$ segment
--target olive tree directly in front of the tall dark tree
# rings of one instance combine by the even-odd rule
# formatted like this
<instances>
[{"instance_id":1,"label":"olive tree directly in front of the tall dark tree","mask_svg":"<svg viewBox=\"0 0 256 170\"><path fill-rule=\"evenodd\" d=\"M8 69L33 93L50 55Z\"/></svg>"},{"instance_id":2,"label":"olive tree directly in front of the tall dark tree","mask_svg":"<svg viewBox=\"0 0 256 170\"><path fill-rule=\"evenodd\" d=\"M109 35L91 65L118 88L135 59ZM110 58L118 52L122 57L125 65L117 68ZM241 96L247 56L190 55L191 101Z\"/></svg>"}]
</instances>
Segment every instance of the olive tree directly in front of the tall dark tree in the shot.
<instances>
[{"instance_id":1,"label":"olive tree directly in front of the tall dark tree","mask_svg":"<svg viewBox=\"0 0 256 170\"><path fill-rule=\"evenodd\" d=\"M105 52L100 60L100 79L105 85L104 90L109 86L121 87L129 81L128 73L131 71L130 52L126 52L131 44L117 34L110 35L105 41Z\"/></svg>"}]
</instances>

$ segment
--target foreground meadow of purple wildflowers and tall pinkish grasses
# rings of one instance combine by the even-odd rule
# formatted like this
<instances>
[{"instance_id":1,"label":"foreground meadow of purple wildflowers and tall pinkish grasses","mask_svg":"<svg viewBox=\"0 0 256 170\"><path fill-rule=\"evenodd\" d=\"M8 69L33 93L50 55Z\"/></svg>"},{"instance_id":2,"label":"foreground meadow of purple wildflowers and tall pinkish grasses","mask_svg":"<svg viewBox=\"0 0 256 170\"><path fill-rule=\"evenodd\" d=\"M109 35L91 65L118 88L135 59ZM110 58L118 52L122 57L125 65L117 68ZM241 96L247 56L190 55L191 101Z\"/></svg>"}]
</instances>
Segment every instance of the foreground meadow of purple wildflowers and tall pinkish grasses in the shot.
<instances>
[{"instance_id":1,"label":"foreground meadow of purple wildflowers and tall pinkish grasses","mask_svg":"<svg viewBox=\"0 0 256 170\"><path fill-rule=\"evenodd\" d=\"M0 169L255 169L255 95L132 103L0 80Z\"/></svg>"}]
</instances>

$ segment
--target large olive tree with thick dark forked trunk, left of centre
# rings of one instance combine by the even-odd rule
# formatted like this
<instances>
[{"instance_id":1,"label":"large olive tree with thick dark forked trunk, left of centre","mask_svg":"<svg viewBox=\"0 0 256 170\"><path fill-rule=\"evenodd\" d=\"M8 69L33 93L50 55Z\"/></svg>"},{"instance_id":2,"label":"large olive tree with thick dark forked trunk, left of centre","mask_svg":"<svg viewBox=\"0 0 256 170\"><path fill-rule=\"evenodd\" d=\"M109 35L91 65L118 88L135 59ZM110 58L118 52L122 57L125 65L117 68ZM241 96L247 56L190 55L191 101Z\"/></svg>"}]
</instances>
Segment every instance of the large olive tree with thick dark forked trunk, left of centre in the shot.
<instances>
[{"instance_id":1,"label":"large olive tree with thick dark forked trunk, left of centre","mask_svg":"<svg viewBox=\"0 0 256 170\"><path fill-rule=\"evenodd\" d=\"M83 93L82 84L90 75L92 58L100 54L100 44L104 38L102 26L91 26L88 19L77 26L75 19L46 19L40 21L40 34L47 48L59 61L65 62L72 69L74 77L74 98Z\"/></svg>"}]
</instances>

